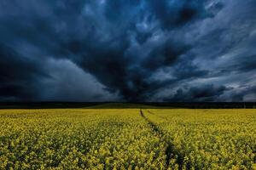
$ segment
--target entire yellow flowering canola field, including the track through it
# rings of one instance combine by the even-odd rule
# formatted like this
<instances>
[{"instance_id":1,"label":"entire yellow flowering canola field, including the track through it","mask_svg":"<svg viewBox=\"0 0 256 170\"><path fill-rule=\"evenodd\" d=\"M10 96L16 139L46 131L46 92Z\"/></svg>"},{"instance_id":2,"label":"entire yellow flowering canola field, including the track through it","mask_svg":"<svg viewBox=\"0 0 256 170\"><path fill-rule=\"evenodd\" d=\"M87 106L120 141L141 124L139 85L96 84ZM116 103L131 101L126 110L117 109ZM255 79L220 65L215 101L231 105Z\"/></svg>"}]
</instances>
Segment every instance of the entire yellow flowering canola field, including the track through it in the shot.
<instances>
[{"instance_id":1,"label":"entire yellow flowering canola field, including the track through it","mask_svg":"<svg viewBox=\"0 0 256 170\"><path fill-rule=\"evenodd\" d=\"M256 169L256 110L0 110L0 169Z\"/></svg>"}]
</instances>

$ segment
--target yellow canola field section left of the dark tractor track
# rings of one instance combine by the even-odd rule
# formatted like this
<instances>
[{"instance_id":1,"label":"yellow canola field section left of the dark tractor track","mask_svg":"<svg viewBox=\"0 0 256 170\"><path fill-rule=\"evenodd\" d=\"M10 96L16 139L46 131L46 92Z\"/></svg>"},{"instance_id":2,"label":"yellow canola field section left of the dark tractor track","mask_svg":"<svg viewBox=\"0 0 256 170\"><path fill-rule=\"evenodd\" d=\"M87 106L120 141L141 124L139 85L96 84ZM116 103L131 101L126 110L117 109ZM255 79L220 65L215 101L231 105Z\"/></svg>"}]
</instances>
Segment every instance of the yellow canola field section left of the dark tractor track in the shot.
<instances>
[{"instance_id":1,"label":"yellow canola field section left of the dark tractor track","mask_svg":"<svg viewBox=\"0 0 256 170\"><path fill-rule=\"evenodd\" d=\"M0 111L0 169L161 169L165 147L139 110Z\"/></svg>"}]
</instances>

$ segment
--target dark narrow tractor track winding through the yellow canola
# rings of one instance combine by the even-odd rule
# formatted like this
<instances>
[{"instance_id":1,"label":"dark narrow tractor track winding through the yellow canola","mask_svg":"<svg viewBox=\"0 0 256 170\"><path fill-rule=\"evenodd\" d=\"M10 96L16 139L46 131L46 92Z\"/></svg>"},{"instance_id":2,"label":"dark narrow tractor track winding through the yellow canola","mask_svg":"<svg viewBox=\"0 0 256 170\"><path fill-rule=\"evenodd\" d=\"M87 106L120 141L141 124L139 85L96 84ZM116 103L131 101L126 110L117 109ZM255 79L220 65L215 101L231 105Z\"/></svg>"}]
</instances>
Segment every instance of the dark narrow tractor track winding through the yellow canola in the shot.
<instances>
[{"instance_id":1,"label":"dark narrow tractor track winding through the yellow canola","mask_svg":"<svg viewBox=\"0 0 256 170\"><path fill-rule=\"evenodd\" d=\"M148 112L148 113L154 114L152 112ZM167 169L169 167L170 160L172 159L172 156L173 156L173 153L174 153L173 152L173 144L166 139L166 135L163 132L163 130L161 130L160 127L158 127L156 124L154 124L154 122L150 121L148 119L148 117L144 115L143 110L140 110L140 115L143 117L143 119L146 122L148 122L148 125L152 128L152 130L155 133L159 133L160 138L163 139L163 141L165 141L165 143L166 143L166 151L165 151L165 154L166 154L166 169ZM181 169L181 167L179 167L179 169Z\"/></svg>"}]
</instances>

